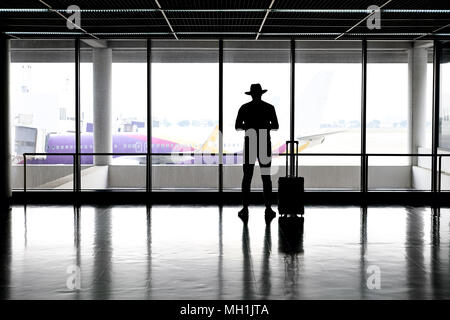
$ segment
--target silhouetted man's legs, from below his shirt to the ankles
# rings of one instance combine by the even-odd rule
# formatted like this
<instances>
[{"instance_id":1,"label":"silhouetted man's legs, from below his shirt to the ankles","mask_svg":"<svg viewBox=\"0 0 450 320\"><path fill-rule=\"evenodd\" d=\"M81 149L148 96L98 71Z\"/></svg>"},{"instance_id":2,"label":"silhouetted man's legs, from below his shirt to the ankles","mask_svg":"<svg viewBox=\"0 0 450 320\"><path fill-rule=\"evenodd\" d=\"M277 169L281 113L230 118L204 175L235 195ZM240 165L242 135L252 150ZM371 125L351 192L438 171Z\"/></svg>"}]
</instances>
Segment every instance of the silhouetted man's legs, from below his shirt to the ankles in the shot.
<instances>
[{"instance_id":1,"label":"silhouetted man's legs, from below his shirt to the ankles","mask_svg":"<svg viewBox=\"0 0 450 320\"><path fill-rule=\"evenodd\" d=\"M259 135L258 135L258 145L259 145ZM264 204L266 205L266 208L271 206L271 200L272 200L272 179L270 176L270 167L271 167L271 161L268 163L262 163L260 159L259 154L259 147L257 147L257 153L254 155L250 155L249 153L249 141L248 139L245 139L244 142L244 150L245 150L245 156L244 156L244 165L243 165L243 171L244 176L242 178L242 204L244 207L248 207L249 205L249 198L250 198L250 189L252 184L252 178L253 178L253 171L255 169L255 161L256 158L260 161L259 166L261 168L261 178L263 182L263 192L264 192ZM271 149L271 142L270 138L267 139L267 156L268 159L271 160L272 156L272 149ZM266 160L265 158L264 160Z\"/></svg>"}]
</instances>

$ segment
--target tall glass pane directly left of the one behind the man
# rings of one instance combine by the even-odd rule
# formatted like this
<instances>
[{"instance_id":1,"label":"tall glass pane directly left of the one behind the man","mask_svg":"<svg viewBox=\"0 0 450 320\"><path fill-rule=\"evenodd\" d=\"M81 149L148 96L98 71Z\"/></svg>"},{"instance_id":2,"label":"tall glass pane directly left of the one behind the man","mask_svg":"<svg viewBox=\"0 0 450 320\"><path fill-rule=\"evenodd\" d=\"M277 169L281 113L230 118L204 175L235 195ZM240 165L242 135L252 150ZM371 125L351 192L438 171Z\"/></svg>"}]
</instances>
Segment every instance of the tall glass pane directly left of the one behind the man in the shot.
<instances>
[{"instance_id":1,"label":"tall glass pane directly left of the one behind the man","mask_svg":"<svg viewBox=\"0 0 450 320\"><path fill-rule=\"evenodd\" d=\"M152 41L151 70L153 190L216 191L218 42Z\"/></svg>"}]
</instances>

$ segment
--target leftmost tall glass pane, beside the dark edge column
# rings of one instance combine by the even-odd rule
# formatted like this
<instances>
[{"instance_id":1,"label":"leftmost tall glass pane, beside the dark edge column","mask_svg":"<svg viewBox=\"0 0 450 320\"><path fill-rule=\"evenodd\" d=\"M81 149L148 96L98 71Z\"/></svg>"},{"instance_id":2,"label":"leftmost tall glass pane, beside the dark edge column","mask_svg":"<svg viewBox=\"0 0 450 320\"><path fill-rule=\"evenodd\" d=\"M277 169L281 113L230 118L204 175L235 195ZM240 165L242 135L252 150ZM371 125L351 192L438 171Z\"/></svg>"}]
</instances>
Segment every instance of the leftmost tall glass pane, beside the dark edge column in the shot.
<instances>
[{"instance_id":1,"label":"leftmost tall glass pane, beside the dark edge column","mask_svg":"<svg viewBox=\"0 0 450 320\"><path fill-rule=\"evenodd\" d=\"M73 153L75 141L75 55L72 40L11 40L11 137L13 189L23 188L24 153ZM29 159L32 165L36 159ZM44 171L71 172L72 158L43 157ZM60 169L60 167L67 167ZM32 170L36 171L36 168ZM50 174L60 179L61 174ZM44 179L45 182L51 182ZM40 186L42 179L36 180Z\"/></svg>"}]
</instances>

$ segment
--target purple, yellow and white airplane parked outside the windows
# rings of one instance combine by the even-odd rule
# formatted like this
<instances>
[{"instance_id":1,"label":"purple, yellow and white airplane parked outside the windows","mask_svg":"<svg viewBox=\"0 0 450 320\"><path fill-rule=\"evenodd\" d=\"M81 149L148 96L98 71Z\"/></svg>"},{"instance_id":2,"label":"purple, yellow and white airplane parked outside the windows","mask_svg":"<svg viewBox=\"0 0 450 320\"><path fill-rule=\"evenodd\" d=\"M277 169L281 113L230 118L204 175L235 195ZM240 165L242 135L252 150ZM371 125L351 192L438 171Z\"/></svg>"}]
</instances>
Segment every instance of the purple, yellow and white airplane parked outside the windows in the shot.
<instances>
[{"instance_id":1,"label":"purple, yellow and white airplane parked outside the windows","mask_svg":"<svg viewBox=\"0 0 450 320\"><path fill-rule=\"evenodd\" d=\"M302 152L306 148L310 148L325 141L327 135L336 134L342 131L334 131L322 134L315 134L310 136L297 137L299 143L298 152ZM218 126L214 128L212 133L206 139L202 145L189 144L189 143L177 143L173 140L162 139L158 137L152 137L153 153L172 153L173 155L157 155L152 156L153 164L217 164L219 162L218 154ZM92 132L85 132L81 134L80 139L80 152L81 153L93 153L94 151L94 137ZM123 132L115 133L113 135L113 153L146 153L147 152L147 135L136 132ZM241 148L241 151L228 152L225 148L224 153L228 153L223 156L223 164L242 164L243 156L243 144L232 144ZM276 156L279 153L289 152L286 150L286 143L278 143L275 148L272 149L272 154ZM45 153L48 156L35 156L31 159L27 159L27 164L72 164L72 155L54 155L52 153L75 153L75 135L73 133L49 133L45 142ZM189 155L179 155L179 153L189 153ZM194 153L191 155L190 153ZM198 153L198 155L196 154ZM204 153L205 155L202 155ZM215 155L210 155L210 154ZM145 164L145 156L112 156L113 159L120 158L121 160L129 160L130 162ZM81 156L81 164L93 164L93 155ZM23 163L20 161L19 163Z\"/></svg>"}]
</instances>

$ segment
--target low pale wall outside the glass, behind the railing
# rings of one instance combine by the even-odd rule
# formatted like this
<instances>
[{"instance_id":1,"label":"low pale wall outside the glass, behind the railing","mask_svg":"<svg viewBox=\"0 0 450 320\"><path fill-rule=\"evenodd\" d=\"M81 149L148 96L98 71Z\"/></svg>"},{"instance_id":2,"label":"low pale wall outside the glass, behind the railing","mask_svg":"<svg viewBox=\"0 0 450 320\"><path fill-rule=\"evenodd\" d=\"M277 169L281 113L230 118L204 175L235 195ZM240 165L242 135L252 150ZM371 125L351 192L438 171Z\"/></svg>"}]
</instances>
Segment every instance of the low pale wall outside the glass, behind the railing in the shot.
<instances>
[{"instance_id":1,"label":"low pale wall outside the glass, behind the railing","mask_svg":"<svg viewBox=\"0 0 450 320\"><path fill-rule=\"evenodd\" d=\"M450 169L450 166L448 167ZM284 176L284 167L273 169L272 182L277 188L278 177ZM299 175L305 178L307 189L351 189L360 185L359 166L300 166ZM13 167L13 185L23 188L23 167ZM58 180L59 179L59 180ZM68 179L68 180L67 180ZM110 165L96 166L82 170L82 189L106 188L145 188L145 166ZM370 189L429 189L429 169L411 166L371 166L369 167ZM72 166L33 165L27 167L28 188L42 185L71 189ZM60 184L52 183L57 180ZM224 166L224 188L239 189L242 180L242 167ZM443 178L443 186L447 182ZM155 165L152 184L154 188L218 188L218 168L216 166L196 165ZM450 188L450 181L448 184ZM253 188L262 188L259 167L255 167Z\"/></svg>"}]
</instances>

